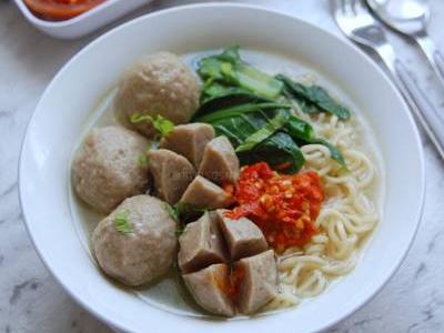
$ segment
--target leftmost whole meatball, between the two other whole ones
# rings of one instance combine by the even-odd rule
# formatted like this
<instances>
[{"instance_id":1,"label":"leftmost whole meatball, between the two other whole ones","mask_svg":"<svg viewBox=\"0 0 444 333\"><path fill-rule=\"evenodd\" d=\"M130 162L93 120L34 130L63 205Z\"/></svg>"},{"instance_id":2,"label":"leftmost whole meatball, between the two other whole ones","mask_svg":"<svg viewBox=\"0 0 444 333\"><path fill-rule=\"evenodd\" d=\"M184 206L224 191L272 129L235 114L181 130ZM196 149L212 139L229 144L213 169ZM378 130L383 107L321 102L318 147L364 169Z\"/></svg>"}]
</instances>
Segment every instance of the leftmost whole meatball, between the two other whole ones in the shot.
<instances>
[{"instance_id":1,"label":"leftmost whole meatball, between the two other whole ones","mask_svg":"<svg viewBox=\"0 0 444 333\"><path fill-rule=\"evenodd\" d=\"M125 198L145 192L149 173L139 159L147 145L145 138L122 127L93 129L72 162L78 195L109 213Z\"/></svg>"}]
</instances>

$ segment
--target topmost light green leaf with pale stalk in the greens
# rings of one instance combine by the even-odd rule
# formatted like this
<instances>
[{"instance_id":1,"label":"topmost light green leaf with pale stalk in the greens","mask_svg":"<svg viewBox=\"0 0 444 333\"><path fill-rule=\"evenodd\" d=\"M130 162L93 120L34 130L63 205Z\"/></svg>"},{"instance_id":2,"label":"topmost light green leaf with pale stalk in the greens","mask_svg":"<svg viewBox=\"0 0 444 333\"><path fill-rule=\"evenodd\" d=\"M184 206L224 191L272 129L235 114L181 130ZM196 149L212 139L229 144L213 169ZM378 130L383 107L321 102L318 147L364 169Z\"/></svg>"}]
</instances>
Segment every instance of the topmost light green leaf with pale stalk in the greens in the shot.
<instances>
[{"instance_id":1,"label":"topmost light green leaf with pale stalk in the greens","mask_svg":"<svg viewBox=\"0 0 444 333\"><path fill-rule=\"evenodd\" d=\"M225 49L221 54L203 58L198 73L204 80L204 90L213 82L244 88L264 98L280 95L283 83L241 60L239 47Z\"/></svg>"}]
</instances>

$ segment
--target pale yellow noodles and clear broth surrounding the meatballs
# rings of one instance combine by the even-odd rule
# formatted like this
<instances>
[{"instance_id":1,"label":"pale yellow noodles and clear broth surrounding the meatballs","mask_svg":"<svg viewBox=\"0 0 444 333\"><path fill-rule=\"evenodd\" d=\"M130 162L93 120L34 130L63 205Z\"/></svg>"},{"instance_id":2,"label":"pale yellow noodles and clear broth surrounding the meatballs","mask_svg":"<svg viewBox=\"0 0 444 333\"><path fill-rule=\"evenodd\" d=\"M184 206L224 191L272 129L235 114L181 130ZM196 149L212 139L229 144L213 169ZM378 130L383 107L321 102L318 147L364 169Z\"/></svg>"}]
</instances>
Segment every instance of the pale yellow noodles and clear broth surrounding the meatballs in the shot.
<instances>
[{"instance_id":1,"label":"pale yellow noodles and clear broth surrounding the meatballs","mask_svg":"<svg viewBox=\"0 0 444 333\"><path fill-rule=\"evenodd\" d=\"M213 53L184 54L182 60L192 71L199 72L200 61ZM245 63L263 73L270 75L282 73L296 82L301 82L304 87L325 87L334 99L341 100L341 103L344 103L351 110L350 119L345 121L339 115L329 112L307 113L297 102L292 101L289 104L289 114L292 114L303 123L310 124L317 140L304 142L303 144L296 140L304 162L295 174L314 172L322 183L323 201L316 218L312 221L315 233L310 238L310 241L303 245L285 246L282 251L274 251L276 292L255 311L255 313L273 313L276 310L297 305L306 299L322 294L332 282L345 276L359 264L363 245L381 219L384 174L382 159L376 143L372 139L374 135L372 135L372 131L366 123L365 114L359 111L353 102L346 98L346 94L341 92L341 89L337 89L326 78L320 75L316 69L310 68L307 64L297 63L294 59L256 51L242 51L241 54ZM241 88L243 89L243 87ZM110 92L100 107L94 110L87 125L85 134L94 128L121 125L122 123L128 125L120 118L119 110L115 110L114 101L118 94L119 88ZM270 101L266 100L266 102L269 103ZM276 102L281 103L282 101L276 99ZM137 118L132 117L130 121L134 119L137 120ZM199 119L196 122L199 122ZM220 134L218 125L213 124L216 135ZM139 131L135 128L132 128L132 130ZM158 139L151 138L151 142L154 142L154 150L159 144ZM234 145L233 141L231 142ZM332 147L337 149L344 164L332 158ZM226 186L223 182L213 182L225 192L231 189L231 195L235 198L235 190L232 188L235 189L239 184L233 183ZM89 240L92 231L99 221L107 220L105 214L94 212L82 200L79 200L81 195L74 194L75 184L72 184L71 189L73 189L72 212L79 226L79 234L83 240L83 244L90 248L92 244L90 244ZM155 189L151 189L148 193L159 196L155 194L159 193L159 191L155 192ZM161 199L165 200L164 198ZM233 201L231 205L220 208L233 209L235 204ZM175 204L174 208L176 206ZM209 210L206 208L199 209ZM115 223L115 218L113 219ZM198 219L199 216L191 220L186 218L185 220L188 223ZM253 218L251 220L256 222ZM183 224L182 229L186 231L185 223L181 221L181 218L179 218L178 223ZM258 222L256 224L260 225ZM264 230L262 231L264 232ZM268 242L271 244L270 239L268 239ZM270 245L270 248L272 249L273 246ZM175 262L176 259L173 261ZM233 264L233 259L230 260L231 264ZM235 264L233 265L235 266ZM103 264L100 262L99 266L104 270ZM107 270L104 271L107 273ZM176 264L174 264L160 279L150 281L149 284L142 283L142 286L132 289L132 291L150 304L180 314L206 316L206 312L213 312L218 315L224 315L223 313L211 311L211 309L205 309L204 301L196 296L196 291L190 286L191 283L182 283L182 275L183 272L180 269L178 270ZM191 290L188 290L188 287ZM202 312L201 307L206 312Z\"/></svg>"}]
</instances>

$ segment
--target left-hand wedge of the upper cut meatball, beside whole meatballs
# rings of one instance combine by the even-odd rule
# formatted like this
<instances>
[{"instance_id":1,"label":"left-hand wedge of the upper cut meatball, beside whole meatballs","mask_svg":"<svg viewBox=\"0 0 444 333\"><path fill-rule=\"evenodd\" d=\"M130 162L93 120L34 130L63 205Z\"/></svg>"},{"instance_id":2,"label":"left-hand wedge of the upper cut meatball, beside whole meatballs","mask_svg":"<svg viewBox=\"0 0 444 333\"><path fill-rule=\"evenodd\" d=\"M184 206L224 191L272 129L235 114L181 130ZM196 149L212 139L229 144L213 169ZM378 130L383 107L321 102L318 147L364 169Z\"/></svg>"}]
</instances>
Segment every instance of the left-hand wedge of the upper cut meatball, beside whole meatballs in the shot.
<instances>
[{"instance_id":1,"label":"left-hand wedge of the upper cut meatball, beside whole meatballs","mask_svg":"<svg viewBox=\"0 0 444 333\"><path fill-rule=\"evenodd\" d=\"M193 165L184 157L167 149L150 150L148 161L155 195L175 204L194 179Z\"/></svg>"}]
</instances>

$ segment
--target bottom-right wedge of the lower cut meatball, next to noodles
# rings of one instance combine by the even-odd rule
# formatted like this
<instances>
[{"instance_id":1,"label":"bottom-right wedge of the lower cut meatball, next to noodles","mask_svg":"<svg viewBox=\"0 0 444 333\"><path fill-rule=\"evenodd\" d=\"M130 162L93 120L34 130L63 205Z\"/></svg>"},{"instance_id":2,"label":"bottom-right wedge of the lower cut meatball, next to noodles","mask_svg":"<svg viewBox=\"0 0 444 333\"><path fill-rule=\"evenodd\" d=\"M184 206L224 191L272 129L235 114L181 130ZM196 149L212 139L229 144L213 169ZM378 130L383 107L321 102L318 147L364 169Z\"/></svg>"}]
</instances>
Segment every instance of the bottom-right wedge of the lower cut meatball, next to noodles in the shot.
<instances>
[{"instance_id":1,"label":"bottom-right wedge of the lower cut meatball, next to noodles","mask_svg":"<svg viewBox=\"0 0 444 333\"><path fill-rule=\"evenodd\" d=\"M278 294L278 268L273 250L241 259L235 270L242 272L236 305L240 312L253 314Z\"/></svg>"}]
</instances>

